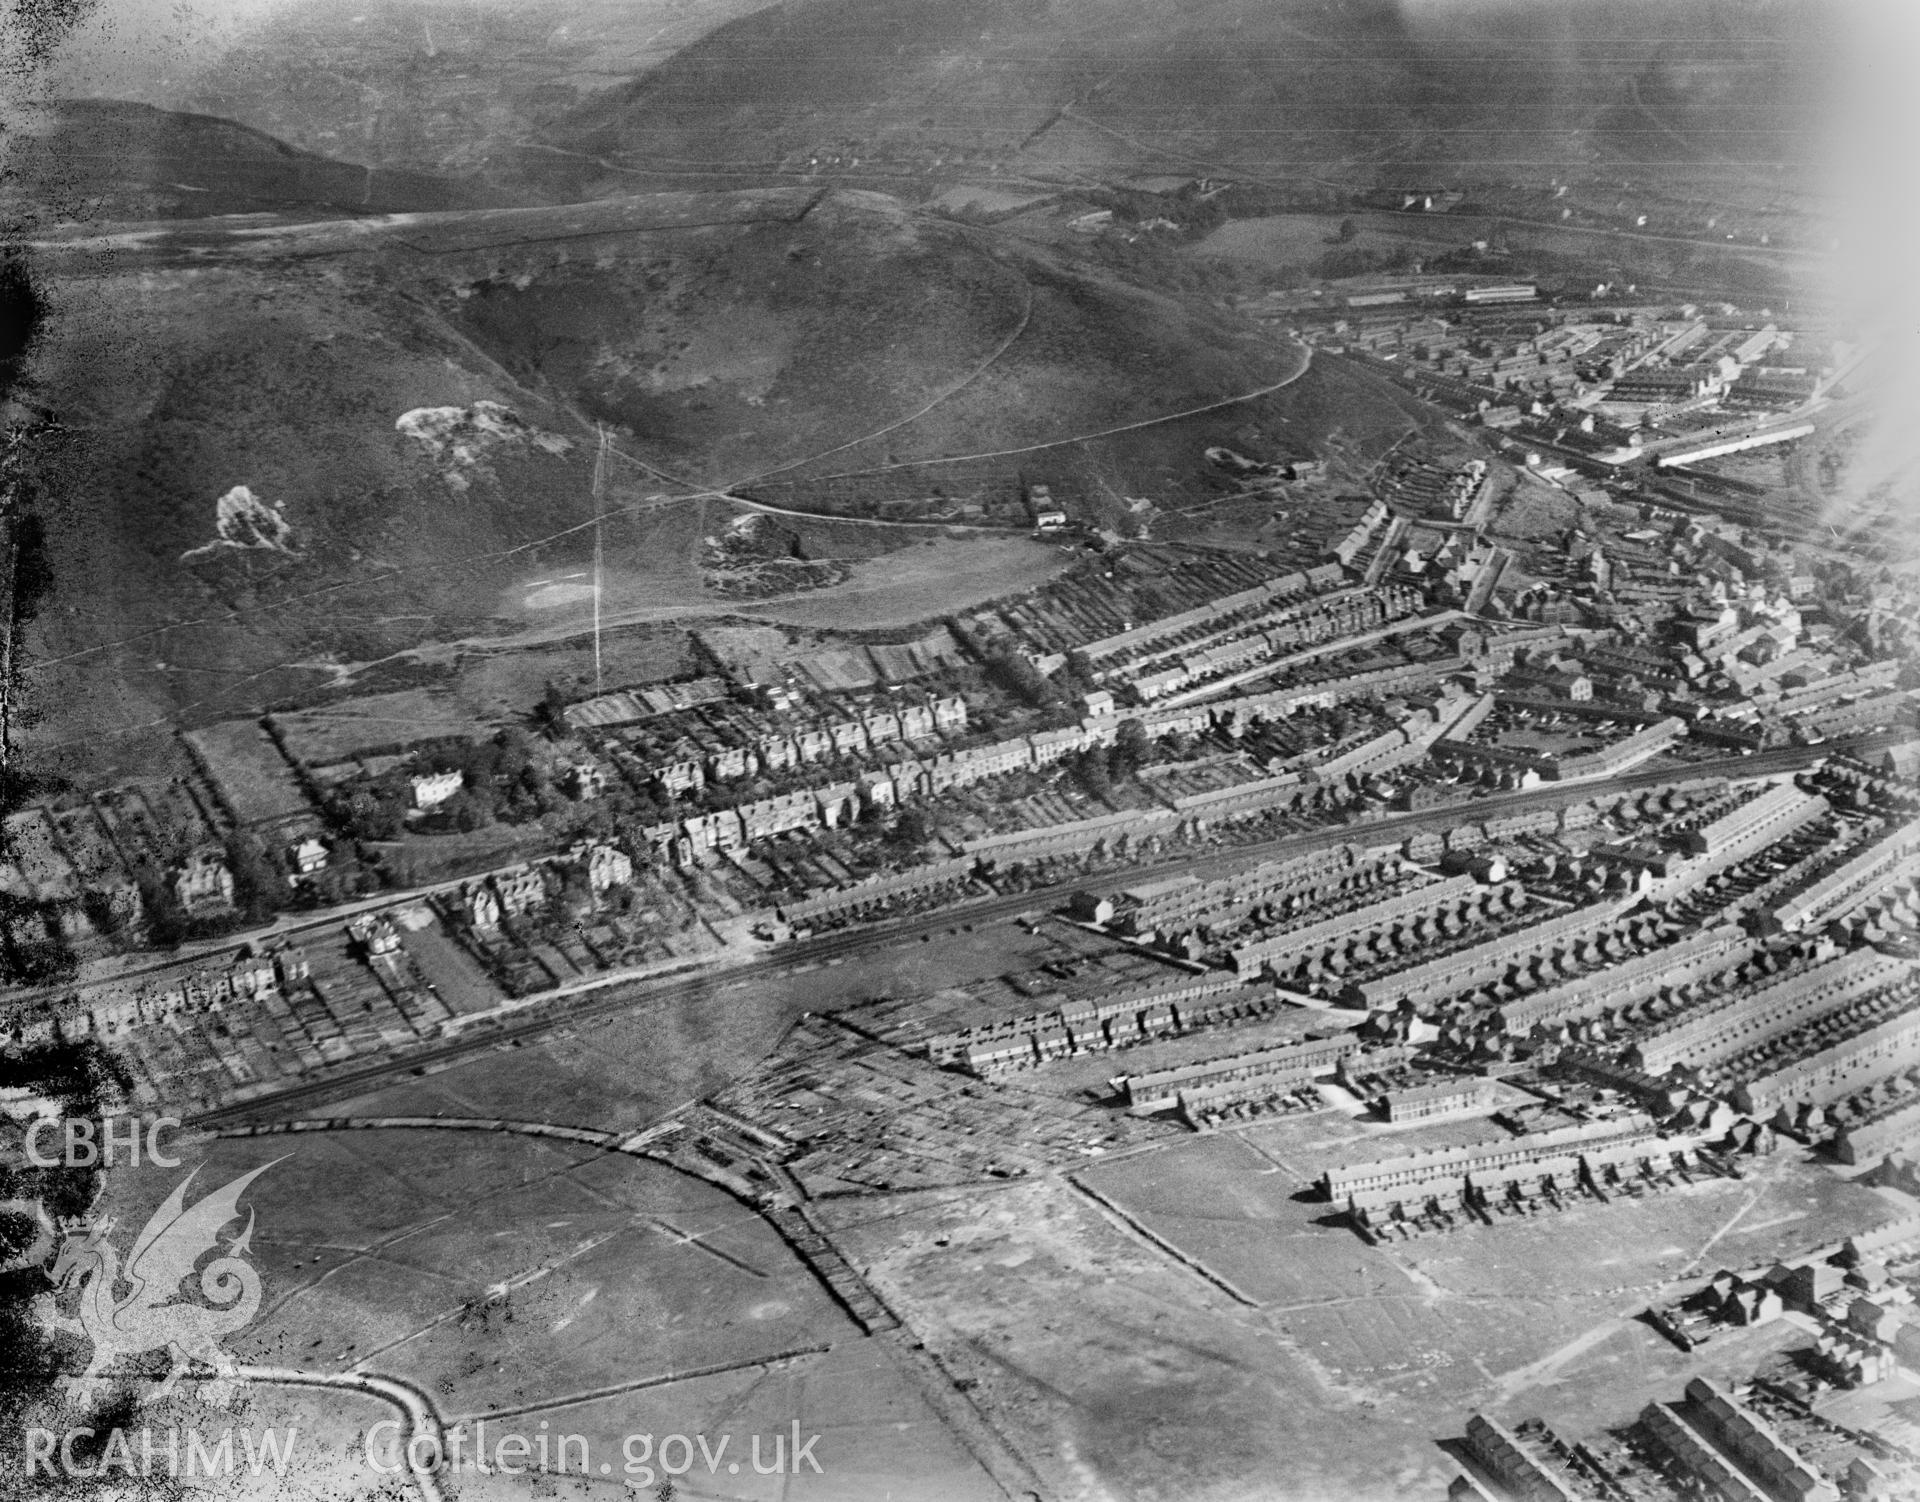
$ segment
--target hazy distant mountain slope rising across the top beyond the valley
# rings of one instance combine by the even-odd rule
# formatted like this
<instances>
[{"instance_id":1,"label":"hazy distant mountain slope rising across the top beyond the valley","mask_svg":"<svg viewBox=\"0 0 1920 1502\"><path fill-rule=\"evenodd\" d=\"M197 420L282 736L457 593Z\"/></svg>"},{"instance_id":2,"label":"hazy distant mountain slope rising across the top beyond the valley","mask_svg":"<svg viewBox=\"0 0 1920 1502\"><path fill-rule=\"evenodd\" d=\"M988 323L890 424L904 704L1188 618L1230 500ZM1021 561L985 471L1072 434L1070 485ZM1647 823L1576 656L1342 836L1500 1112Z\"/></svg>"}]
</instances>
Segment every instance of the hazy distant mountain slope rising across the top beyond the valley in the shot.
<instances>
[{"instance_id":1,"label":"hazy distant mountain slope rising across the top beyond the valley","mask_svg":"<svg viewBox=\"0 0 1920 1502\"><path fill-rule=\"evenodd\" d=\"M1816 4L795 0L545 134L559 190L726 163L768 179L1213 171L1342 184L1797 163Z\"/></svg>"}]
</instances>

